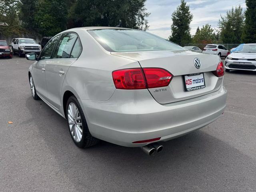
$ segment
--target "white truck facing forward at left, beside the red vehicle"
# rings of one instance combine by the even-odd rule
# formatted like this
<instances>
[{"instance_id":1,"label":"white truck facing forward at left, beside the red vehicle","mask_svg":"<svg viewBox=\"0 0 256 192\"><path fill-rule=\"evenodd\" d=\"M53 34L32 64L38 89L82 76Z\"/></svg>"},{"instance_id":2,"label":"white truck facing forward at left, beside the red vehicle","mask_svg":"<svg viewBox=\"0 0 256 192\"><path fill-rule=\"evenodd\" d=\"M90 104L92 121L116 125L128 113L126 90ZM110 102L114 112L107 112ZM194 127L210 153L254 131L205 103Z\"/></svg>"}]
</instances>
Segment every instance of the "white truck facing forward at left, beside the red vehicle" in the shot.
<instances>
[{"instance_id":1,"label":"white truck facing forward at left, beside the red vehicle","mask_svg":"<svg viewBox=\"0 0 256 192\"><path fill-rule=\"evenodd\" d=\"M12 39L13 54L18 53L19 57L27 53L40 54L41 46L34 40L29 38L13 38Z\"/></svg>"}]
</instances>

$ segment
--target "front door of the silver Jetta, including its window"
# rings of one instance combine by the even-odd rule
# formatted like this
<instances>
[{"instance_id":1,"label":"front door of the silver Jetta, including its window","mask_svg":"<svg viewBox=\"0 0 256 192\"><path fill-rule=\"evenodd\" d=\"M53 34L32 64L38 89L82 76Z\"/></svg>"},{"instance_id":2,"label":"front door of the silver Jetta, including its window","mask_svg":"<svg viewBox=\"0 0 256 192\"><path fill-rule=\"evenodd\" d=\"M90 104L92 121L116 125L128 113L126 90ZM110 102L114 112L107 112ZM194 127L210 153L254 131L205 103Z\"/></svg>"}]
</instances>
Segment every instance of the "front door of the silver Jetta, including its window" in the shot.
<instances>
[{"instance_id":1,"label":"front door of the silver Jetta, including its window","mask_svg":"<svg viewBox=\"0 0 256 192\"><path fill-rule=\"evenodd\" d=\"M52 52L60 35L54 37L42 50L37 63L32 70L32 77L36 87L36 92L45 100L48 100L48 93L46 88L45 70L46 65L50 64Z\"/></svg>"}]
</instances>

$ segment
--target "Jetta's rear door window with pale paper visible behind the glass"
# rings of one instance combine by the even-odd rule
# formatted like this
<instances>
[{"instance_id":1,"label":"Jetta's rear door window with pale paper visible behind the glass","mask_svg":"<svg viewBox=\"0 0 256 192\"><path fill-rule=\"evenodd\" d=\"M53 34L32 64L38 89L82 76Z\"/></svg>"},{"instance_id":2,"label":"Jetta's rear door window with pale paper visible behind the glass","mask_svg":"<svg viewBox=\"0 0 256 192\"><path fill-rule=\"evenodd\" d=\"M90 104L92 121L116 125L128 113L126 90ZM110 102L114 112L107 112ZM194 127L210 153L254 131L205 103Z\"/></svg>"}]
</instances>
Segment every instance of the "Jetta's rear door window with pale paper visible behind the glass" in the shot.
<instances>
[{"instance_id":1,"label":"Jetta's rear door window with pale paper visible behind the glass","mask_svg":"<svg viewBox=\"0 0 256 192\"><path fill-rule=\"evenodd\" d=\"M63 34L56 46L54 52L54 59L66 59L70 58L70 54L74 43L76 42L77 35L74 33Z\"/></svg>"}]
</instances>

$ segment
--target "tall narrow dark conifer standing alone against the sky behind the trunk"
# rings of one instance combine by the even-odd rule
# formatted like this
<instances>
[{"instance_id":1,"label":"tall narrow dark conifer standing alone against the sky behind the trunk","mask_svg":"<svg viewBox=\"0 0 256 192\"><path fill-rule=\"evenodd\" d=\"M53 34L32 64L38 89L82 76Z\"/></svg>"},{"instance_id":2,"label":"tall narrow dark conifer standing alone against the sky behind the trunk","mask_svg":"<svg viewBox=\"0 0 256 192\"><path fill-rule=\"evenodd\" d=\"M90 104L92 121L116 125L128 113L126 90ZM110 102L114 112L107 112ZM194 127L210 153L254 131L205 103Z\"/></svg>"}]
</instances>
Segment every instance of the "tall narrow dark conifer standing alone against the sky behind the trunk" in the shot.
<instances>
[{"instance_id":1,"label":"tall narrow dark conifer standing alone against the sky behind the trunk","mask_svg":"<svg viewBox=\"0 0 256 192\"><path fill-rule=\"evenodd\" d=\"M181 0L181 4L172 13L172 34L169 40L176 44L190 43L190 22L192 18L193 15L189 11L189 6L186 5L185 0Z\"/></svg>"}]
</instances>

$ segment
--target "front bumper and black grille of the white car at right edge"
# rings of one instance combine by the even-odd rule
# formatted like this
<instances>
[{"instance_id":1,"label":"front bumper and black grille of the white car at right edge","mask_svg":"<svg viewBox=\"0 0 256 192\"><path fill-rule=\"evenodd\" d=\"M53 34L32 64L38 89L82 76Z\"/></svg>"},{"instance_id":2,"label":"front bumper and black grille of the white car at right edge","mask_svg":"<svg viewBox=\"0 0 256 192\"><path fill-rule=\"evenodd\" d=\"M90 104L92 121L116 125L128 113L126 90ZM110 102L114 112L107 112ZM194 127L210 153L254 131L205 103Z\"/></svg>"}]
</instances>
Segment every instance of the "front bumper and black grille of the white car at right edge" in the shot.
<instances>
[{"instance_id":1,"label":"front bumper and black grille of the white car at right edge","mask_svg":"<svg viewBox=\"0 0 256 192\"><path fill-rule=\"evenodd\" d=\"M224 66L229 70L256 71L256 61L226 59Z\"/></svg>"}]
</instances>

